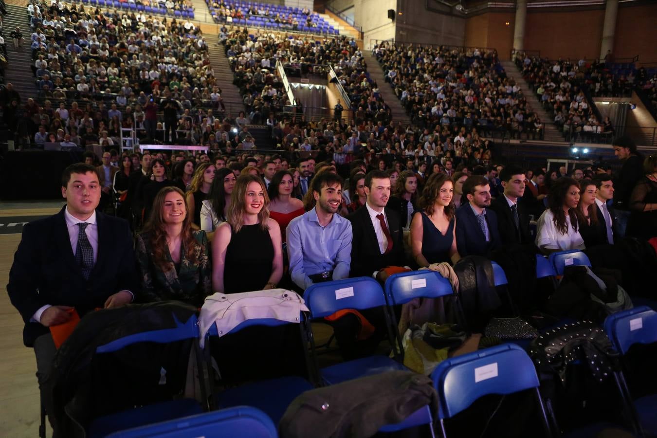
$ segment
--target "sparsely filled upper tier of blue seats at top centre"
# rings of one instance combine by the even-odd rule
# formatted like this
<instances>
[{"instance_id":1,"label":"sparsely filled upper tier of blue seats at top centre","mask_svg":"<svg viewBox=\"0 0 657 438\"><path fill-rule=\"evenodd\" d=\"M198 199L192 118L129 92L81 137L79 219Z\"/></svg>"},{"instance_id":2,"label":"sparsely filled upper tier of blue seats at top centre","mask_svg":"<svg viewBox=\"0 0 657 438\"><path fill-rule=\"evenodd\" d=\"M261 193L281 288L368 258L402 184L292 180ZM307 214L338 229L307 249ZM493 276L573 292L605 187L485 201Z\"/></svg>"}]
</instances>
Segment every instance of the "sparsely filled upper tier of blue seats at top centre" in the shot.
<instances>
[{"instance_id":1,"label":"sparsely filled upper tier of blue seats at top centre","mask_svg":"<svg viewBox=\"0 0 657 438\"><path fill-rule=\"evenodd\" d=\"M285 32L298 31L324 35L340 33L319 14L306 8L242 0L206 0L206 3L217 23Z\"/></svg>"}]
</instances>

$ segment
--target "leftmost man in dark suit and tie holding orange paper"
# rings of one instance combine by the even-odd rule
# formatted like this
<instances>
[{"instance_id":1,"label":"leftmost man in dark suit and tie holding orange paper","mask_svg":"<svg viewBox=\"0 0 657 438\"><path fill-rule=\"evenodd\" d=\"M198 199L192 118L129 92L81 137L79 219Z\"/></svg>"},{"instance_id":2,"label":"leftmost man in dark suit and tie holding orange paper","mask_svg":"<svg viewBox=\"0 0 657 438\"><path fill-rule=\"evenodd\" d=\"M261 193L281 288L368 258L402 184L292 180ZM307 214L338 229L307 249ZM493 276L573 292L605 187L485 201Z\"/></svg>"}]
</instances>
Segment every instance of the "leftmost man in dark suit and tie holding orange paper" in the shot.
<instances>
[{"instance_id":1,"label":"leftmost man in dark suit and tie holding orange paper","mask_svg":"<svg viewBox=\"0 0 657 438\"><path fill-rule=\"evenodd\" d=\"M70 320L72 309L83 317L96 307L127 304L139 292L127 222L96 210L99 180L91 165L64 169L66 206L25 225L9 271L7 292L25 321L23 343L34 347L41 401L49 416L53 399L48 377L57 352L49 327Z\"/></svg>"}]
</instances>

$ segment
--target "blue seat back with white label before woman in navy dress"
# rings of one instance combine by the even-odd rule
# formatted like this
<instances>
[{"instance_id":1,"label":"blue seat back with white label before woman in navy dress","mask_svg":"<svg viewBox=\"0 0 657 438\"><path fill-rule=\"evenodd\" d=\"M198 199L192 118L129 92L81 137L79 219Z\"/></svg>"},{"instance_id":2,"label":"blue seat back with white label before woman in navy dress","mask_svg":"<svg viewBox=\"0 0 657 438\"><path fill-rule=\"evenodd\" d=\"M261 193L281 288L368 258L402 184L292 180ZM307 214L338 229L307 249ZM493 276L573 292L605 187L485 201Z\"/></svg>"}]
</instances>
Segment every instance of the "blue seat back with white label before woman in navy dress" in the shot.
<instances>
[{"instance_id":1,"label":"blue seat back with white label before woman in navy dress","mask_svg":"<svg viewBox=\"0 0 657 438\"><path fill-rule=\"evenodd\" d=\"M405 304L419 297L440 298L453 294L449 280L428 269L393 274L386 280L384 288L391 305Z\"/></svg>"}]
</instances>

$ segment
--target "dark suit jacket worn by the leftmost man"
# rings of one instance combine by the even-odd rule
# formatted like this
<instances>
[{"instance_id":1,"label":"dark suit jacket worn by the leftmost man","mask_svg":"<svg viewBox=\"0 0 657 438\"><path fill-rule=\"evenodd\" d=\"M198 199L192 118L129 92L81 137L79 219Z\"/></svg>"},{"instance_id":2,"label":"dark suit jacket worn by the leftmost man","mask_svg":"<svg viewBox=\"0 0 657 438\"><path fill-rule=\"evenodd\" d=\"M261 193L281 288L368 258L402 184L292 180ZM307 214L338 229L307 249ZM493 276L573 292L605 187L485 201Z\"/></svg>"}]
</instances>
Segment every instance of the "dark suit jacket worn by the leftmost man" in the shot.
<instances>
[{"instance_id":1,"label":"dark suit jacket worn by the leftmost man","mask_svg":"<svg viewBox=\"0 0 657 438\"><path fill-rule=\"evenodd\" d=\"M127 222L96 212L98 256L87 281L73 255L64 208L56 215L25 225L9 271L7 292L25 322L23 342L28 347L49 332L39 322L30 322L44 305L73 306L81 317L103 307L106 299L120 290L129 290L135 296L139 292Z\"/></svg>"}]
</instances>

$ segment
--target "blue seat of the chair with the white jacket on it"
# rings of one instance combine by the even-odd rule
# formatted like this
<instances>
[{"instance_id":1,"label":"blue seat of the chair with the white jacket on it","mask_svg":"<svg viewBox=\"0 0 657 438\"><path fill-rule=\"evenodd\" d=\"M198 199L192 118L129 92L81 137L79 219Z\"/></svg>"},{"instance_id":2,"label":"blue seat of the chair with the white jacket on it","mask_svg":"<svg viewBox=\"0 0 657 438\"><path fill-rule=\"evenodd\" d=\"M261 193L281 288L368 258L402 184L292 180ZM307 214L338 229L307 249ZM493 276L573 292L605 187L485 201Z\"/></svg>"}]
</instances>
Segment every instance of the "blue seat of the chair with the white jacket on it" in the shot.
<instances>
[{"instance_id":1,"label":"blue seat of the chair with the white jacket on it","mask_svg":"<svg viewBox=\"0 0 657 438\"><path fill-rule=\"evenodd\" d=\"M296 376L246 383L217 394L217 408L253 406L265 412L274 424L279 424L290 403L310 389L313 389L310 382Z\"/></svg>"}]
</instances>

